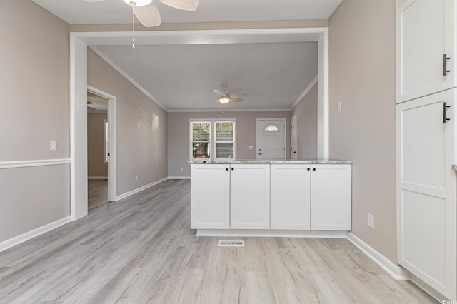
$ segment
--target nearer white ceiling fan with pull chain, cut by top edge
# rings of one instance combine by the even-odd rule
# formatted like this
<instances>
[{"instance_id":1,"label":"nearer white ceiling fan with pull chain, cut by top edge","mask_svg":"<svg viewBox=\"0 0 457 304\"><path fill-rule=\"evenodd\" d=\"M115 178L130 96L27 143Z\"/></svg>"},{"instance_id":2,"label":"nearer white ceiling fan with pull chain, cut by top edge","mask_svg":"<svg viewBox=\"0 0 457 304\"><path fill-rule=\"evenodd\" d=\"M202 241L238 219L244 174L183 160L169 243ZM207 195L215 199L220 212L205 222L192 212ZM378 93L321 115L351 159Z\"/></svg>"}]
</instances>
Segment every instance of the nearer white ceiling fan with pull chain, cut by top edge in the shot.
<instances>
[{"instance_id":1,"label":"nearer white ceiling fan with pull chain, cut by top edge","mask_svg":"<svg viewBox=\"0 0 457 304\"><path fill-rule=\"evenodd\" d=\"M86 0L87 2L99 2L104 0ZM146 27L159 26L161 24L159 9L152 0L123 0L129 4L132 9L132 26L134 31L135 49L135 16ZM184 11L195 11L199 5L199 0L160 0L163 4L173 7L174 9L182 9Z\"/></svg>"}]
</instances>

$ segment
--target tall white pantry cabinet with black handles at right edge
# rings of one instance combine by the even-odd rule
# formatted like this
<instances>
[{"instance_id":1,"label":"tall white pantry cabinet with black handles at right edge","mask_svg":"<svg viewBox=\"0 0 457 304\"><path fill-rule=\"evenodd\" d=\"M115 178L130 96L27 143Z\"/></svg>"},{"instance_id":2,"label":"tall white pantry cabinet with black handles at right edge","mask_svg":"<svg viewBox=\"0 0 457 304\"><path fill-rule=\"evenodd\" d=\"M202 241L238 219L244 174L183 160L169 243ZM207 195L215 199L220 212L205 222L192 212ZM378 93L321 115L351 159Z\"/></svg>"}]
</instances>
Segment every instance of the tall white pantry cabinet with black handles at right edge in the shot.
<instances>
[{"instance_id":1,"label":"tall white pantry cabinet with black handles at right edge","mask_svg":"<svg viewBox=\"0 0 457 304\"><path fill-rule=\"evenodd\" d=\"M398 263L457 298L456 0L397 10Z\"/></svg>"}]
</instances>

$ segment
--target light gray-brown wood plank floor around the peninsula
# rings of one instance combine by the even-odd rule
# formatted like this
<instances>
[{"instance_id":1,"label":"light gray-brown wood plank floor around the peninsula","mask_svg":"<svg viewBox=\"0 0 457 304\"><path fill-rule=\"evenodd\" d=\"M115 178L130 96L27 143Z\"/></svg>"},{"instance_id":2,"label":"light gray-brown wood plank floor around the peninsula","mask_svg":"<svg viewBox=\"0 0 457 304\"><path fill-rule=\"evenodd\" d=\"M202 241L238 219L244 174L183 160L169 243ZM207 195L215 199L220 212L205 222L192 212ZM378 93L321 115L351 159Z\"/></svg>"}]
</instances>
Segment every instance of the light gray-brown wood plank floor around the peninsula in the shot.
<instances>
[{"instance_id":1,"label":"light gray-brown wood plank floor around the peninsula","mask_svg":"<svg viewBox=\"0 0 457 304\"><path fill-rule=\"evenodd\" d=\"M236 238L190 227L166 181L0 253L0 303L436 303L348 240Z\"/></svg>"}]
</instances>

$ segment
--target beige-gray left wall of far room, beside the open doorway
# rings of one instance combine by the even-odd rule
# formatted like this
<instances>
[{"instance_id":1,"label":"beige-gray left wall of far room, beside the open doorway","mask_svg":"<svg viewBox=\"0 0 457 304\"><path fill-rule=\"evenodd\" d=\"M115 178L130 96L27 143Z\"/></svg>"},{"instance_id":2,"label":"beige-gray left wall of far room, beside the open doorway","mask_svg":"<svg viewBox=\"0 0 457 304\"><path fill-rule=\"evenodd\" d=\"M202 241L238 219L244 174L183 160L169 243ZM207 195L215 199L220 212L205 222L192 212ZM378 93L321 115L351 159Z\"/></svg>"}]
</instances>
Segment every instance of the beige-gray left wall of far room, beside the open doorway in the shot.
<instances>
[{"instance_id":1,"label":"beige-gray left wall of far room, beside the open doorway","mask_svg":"<svg viewBox=\"0 0 457 304\"><path fill-rule=\"evenodd\" d=\"M117 195L166 178L166 111L91 49L87 64L88 84L117 98Z\"/></svg>"}]
</instances>

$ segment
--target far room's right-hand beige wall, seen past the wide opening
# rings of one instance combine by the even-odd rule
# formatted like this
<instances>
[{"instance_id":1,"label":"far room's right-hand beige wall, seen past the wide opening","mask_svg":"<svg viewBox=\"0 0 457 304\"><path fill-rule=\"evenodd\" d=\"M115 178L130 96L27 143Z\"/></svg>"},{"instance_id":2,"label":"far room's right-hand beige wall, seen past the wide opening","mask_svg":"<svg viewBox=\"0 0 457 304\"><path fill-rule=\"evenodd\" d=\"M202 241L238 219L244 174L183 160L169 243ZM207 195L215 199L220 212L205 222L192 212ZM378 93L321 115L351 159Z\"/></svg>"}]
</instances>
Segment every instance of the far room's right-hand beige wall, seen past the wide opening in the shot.
<instances>
[{"instance_id":1,"label":"far room's right-hand beige wall, seen past the wide opening","mask_svg":"<svg viewBox=\"0 0 457 304\"><path fill-rule=\"evenodd\" d=\"M297 158L317 158L317 83L293 107L297 116Z\"/></svg>"}]
</instances>

